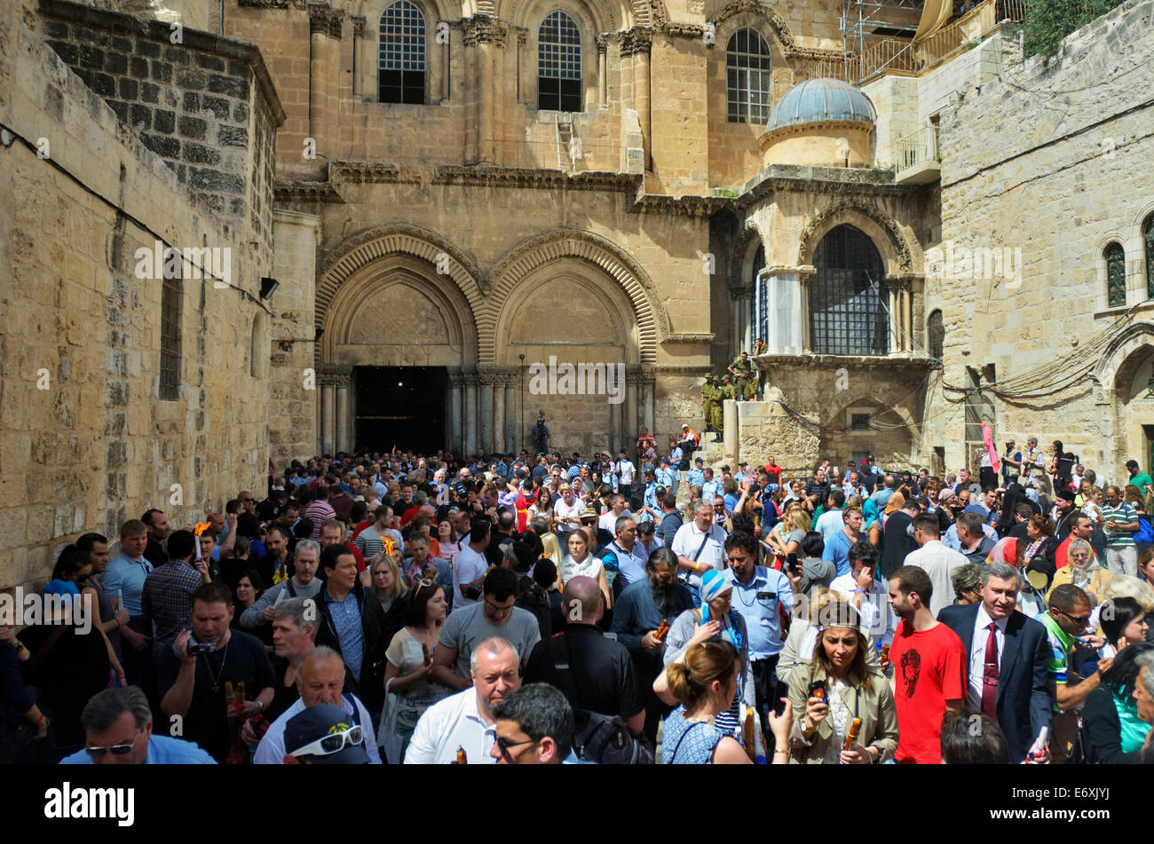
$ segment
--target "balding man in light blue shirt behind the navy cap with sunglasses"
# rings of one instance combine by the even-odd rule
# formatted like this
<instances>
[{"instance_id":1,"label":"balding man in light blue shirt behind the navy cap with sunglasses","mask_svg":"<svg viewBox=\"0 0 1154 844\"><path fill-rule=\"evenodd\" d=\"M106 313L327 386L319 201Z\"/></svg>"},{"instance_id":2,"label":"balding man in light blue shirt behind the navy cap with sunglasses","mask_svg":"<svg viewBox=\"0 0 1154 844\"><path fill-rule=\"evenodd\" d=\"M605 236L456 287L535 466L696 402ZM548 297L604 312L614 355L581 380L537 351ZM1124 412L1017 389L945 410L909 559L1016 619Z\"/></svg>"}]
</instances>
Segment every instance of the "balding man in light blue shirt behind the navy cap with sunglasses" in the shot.
<instances>
[{"instance_id":1,"label":"balding man in light blue shirt behind the navy cap with sunglasses","mask_svg":"<svg viewBox=\"0 0 1154 844\"><path fill-rule=\"evenodd\" d=\"M269 725L268 732L256 746L254 764L284 764L285 724L298 713L315 706L339 707L354 724L359 724L366 736L364 743L369 764L381 764L376 748L376 730L372 716L357 695L344 694L345 663L332 648L314 648L305 657L297 673L297 689L300 699L288 707L279 718Z\"/></svg>"}]
</instances>

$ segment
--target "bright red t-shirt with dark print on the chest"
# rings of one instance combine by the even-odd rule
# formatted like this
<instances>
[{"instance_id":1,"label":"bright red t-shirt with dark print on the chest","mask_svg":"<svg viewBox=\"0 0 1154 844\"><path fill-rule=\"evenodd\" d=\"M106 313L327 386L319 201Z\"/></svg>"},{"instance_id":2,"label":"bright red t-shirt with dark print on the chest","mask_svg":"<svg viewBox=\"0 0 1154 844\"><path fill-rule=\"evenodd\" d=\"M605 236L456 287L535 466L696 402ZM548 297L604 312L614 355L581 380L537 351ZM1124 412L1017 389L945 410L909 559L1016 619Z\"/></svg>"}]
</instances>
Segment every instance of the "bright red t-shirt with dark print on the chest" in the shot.
<instances>
[{"instance_id":1,"label":"bright red t-shirt with dark print on the chest","mask_svg":"<svg viewBox=\"0 0 1154 844\"><path fill-rule=\"evenodd\" d=\"M898 707L898 762L942 763L947 700L966 698L966 648L944 624L915 632L902 619L890 648Z\"/></svg>"}]
</instances>

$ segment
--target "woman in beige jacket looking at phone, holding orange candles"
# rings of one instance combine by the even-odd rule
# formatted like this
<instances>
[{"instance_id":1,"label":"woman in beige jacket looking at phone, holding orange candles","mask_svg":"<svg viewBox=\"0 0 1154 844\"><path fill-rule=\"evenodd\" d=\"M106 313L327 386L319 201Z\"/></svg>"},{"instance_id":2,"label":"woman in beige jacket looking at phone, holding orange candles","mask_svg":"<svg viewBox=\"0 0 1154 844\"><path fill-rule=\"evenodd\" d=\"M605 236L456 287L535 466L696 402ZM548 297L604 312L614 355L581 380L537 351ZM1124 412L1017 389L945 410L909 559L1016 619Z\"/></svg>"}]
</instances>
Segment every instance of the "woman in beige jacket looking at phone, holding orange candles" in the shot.
<instances>
[{"instance_id":1,"label":"woman in beige jacket looking at phone, holding orange candles","mask_svg":"<svg viewBox=\"0 0 1154 844\"><path fill-rule=\"evenodd\" d=\"M867 665L872 648L860 623L849 604L826 605L817 619L814 658L789 675L795 764L870 764L898 747L893 692L885 676Z\"/></svg>"}]
</instances>

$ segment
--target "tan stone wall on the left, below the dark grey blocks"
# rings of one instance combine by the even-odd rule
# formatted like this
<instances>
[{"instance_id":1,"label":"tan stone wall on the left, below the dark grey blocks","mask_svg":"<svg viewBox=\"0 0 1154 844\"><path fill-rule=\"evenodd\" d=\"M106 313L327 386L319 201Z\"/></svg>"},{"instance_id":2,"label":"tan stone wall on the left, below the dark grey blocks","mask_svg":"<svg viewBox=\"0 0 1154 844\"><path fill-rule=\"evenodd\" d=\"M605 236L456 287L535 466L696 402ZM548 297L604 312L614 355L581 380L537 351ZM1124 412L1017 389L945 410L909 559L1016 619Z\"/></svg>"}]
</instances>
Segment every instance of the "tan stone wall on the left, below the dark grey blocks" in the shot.
<instances>
[{"instance_id":1,"label":"tan stone wall on the left, below the dark grey blocks","mask_svg":"<svg viewBox=\"0 0 1154 844\"><path fill-rule=\"evenodd\" d=\"M174 401L159 398L162 281L135 273L157 240L247 255L248 238L68 69L48 23L0 6L0 123L15 135L0 150L0 588L42 585L62 543L115 543L149 507L189 525L262 489L267 468L256 263L233 287L182 281Z\"/></svg>"}]
</instances>

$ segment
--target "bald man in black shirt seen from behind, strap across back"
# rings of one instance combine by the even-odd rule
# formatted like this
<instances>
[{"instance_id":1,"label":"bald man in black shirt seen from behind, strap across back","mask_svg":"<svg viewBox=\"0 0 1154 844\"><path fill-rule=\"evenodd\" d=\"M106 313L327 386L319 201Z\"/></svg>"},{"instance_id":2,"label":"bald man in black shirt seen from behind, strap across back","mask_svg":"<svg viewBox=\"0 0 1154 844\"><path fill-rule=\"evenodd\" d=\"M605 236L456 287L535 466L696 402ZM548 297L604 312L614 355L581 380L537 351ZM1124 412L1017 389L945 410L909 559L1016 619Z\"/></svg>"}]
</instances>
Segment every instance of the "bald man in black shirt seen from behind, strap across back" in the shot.
<instances>
[{"instance_id":1,"label":"bald man in black shirt seen from behind, strap across back","mask_svg":"<svg viewBox=\"0 0 1154 844\"><path fill-rule=\"evenodd\" d=\"M569 706L601 715L620 715L634 736L645 729L645 706L629 649L598 628L605 603L597 581L571 578L561 596L564 633L533 648L525 683L560 688Z\"/></svg>"}]
</instances>

